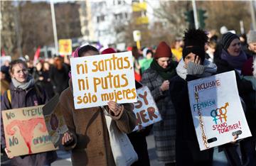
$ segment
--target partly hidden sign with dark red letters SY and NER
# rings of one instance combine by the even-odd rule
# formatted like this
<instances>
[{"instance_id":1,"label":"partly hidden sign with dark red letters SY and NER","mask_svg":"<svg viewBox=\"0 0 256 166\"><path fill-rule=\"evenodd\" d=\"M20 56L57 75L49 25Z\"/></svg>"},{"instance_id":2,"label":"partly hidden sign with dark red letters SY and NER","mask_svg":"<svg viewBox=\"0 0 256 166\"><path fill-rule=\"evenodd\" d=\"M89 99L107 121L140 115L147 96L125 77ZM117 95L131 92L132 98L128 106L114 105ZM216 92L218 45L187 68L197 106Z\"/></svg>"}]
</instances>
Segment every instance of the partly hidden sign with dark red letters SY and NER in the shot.
<instances>
[{"instance_id":1,"label":"partly hidden sign with dark red letters SY and NER","mask_svg":"<svg viewBox=\"0 0 256 166\"><path fill-rule=\"evenodd\" d=\"M134 131L161 121L161 115L148 87L137 89L137 99L133 110L137 118Z\"/></svg>"}]
</instances>

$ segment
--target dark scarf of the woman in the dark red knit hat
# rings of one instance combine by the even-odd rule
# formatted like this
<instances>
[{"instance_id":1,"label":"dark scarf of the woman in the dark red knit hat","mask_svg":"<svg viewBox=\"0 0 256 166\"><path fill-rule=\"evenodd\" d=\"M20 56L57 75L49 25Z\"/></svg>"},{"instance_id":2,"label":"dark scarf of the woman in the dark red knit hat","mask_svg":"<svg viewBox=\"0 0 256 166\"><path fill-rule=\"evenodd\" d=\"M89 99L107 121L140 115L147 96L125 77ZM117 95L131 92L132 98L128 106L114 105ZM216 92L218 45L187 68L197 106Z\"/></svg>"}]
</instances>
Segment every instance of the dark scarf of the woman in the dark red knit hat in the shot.
<instances>
[{"instance_id":1,"label":"dark scarf of the woman in the dark red knit hat","mask_svg":"<svg viewBox=\"0 0 256 166\"><path fill-rule=\"evenodd\" d=\"M168 67L166 67L166 69L164 69L163 67L161 67L158 62L156 62L156 60L154 59L151 62L151 69L156 70L156 72L164 79L164 80L168 80L171 79L171 77L174 77L176 74L175 68L176 68L176 62L171 61L171 63L169 64Z\"/></svg>"}]
</instances>

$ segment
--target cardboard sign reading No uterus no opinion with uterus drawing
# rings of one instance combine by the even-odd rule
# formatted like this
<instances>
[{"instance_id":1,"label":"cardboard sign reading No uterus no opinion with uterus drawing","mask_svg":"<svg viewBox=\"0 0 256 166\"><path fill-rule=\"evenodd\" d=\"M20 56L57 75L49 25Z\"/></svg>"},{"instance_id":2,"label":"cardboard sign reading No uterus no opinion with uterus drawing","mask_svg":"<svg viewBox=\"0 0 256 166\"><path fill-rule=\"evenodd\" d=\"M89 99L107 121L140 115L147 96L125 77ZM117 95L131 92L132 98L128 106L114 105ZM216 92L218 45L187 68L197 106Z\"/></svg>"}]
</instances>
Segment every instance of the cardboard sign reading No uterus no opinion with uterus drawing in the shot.
<instances>
[{"instance_id":1,"label":"cardboard sign reading No uterus no opinion with uterus drawing","mask_svg":"<svg viewBox=\"0 0 256 166\"><path fill-rule=\"evenodd\" d=\"M11 155L28 155L56 150L43 118L43 105L1 111L6 147Z\"/></svg>"}]
</instances>

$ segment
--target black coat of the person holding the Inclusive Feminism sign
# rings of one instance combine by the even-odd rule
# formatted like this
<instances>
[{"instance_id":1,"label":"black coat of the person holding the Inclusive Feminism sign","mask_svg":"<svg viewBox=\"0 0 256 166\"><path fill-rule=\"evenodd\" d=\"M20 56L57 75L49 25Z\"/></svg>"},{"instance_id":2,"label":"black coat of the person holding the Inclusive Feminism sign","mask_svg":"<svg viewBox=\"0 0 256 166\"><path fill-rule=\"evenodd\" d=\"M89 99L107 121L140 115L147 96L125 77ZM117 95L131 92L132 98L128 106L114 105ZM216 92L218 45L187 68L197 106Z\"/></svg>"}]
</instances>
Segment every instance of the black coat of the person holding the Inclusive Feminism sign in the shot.
<instances>
[{"instance_id":1,"label":"black coat of the person holding the Inclusive Feminism sign","mask_svg":"<svg viewBox=\"0 0 256 166\"><path fill-rule=\"evenodd\" d=\"M170 80L169 91L176 111L176 165L211 165L213 149L200 151L193 125L188 98L188 83L197 79L187 75L186 80L176 76Z\"/></svg>"}]
</instances>

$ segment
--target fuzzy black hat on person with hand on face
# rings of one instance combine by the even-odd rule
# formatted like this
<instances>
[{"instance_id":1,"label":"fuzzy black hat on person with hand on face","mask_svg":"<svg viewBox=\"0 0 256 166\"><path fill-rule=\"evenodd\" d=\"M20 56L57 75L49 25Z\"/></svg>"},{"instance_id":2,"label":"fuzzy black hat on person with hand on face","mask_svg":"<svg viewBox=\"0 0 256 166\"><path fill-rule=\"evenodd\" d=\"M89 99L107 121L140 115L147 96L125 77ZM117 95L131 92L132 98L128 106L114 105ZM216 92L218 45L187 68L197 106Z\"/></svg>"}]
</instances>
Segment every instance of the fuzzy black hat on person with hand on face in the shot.
<instances>
[{"instance_id":1,"label":"fuzzy black hat on person with hand on face","mask_svg":"<svg viewBox=\"0 0 256 166\"><path fill-rule=\"evenodd\" d=\"M202 62L205 60L205 45L208 41L208 36L206 35L205 31L195 28L188 29L184 32L183 41L183 60L185 60L186 55L188 55L191 52L201 57Z\"/></svg>"}]
</instances>

